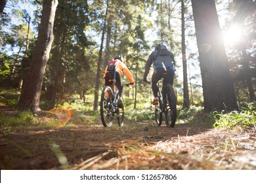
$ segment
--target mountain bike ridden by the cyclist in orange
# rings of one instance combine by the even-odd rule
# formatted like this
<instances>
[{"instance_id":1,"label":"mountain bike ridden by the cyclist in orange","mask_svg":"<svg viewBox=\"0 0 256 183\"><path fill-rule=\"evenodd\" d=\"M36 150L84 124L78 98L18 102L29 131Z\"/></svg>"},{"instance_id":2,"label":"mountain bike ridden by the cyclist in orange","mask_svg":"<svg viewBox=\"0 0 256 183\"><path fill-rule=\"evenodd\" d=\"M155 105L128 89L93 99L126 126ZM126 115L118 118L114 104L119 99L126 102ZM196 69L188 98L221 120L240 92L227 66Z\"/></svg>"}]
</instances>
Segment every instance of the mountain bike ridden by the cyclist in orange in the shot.
<instances>
[{"instance_id":1,"label":"mountain bike ridden by the cyclist in orange","mask_svg":"<svg viewBox=\"0 0 256 183\"><path fill-rule=\"evenodd\" d=\"M129 86L123 84L123 86ZM122 86L122 87L123 87ZM114 116L117 116L117 124L122 127L124 119L124 109L117 106L118 90L114 91L114 83L112 86L104 86L100 99L100 118L104 127L112 126Z\"/></svg>"}]
</instances>

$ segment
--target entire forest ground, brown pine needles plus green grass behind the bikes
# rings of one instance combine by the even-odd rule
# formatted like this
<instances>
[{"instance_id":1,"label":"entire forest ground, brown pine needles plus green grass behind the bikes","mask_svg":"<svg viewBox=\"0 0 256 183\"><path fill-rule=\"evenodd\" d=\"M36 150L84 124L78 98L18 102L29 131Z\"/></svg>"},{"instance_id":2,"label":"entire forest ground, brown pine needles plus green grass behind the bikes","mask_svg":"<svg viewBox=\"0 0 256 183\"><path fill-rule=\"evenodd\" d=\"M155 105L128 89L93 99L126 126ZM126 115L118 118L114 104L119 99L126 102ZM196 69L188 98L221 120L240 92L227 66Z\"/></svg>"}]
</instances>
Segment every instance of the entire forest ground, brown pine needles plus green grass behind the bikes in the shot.
<instances>
[{"instance_id":1,"label":"entire forest ground, brown pine needles plus green grass behind the bikes","mask_svg":"<svg viewBox=\"0 0 256 183\"><path fill-rule=\"evenodd\" d=\"M253 103L230 113L179 108L174 128L157 126L150 108L103 127L98 112L79 107L10 106L0 105L0 169L256 169Z\"/></svg>"}]
</instances>

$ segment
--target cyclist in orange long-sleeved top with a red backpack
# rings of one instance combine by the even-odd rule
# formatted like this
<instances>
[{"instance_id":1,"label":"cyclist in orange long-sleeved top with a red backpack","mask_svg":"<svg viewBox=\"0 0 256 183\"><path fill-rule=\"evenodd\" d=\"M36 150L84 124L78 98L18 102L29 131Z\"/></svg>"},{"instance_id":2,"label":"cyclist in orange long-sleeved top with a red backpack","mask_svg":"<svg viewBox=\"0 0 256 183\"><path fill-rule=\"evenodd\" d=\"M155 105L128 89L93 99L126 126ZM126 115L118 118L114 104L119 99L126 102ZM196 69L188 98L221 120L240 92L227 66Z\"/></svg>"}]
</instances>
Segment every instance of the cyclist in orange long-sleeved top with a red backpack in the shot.
<instances>
[{"instance_id":1,"label":"cyclist in orange long-sleeved top with a red backpack","mask_svg":"<svg viewBox=\"0 0 256 183\"><path fill-rule=\"evenodd\" d=\"M117 106L122 108L123 107L123 82L122 82L122 76L123 73L125 73L125 76L130 81L130 84L134 84L133 75L123 63L123 57L120 55L116 55L114 59L110 60L110 63L106 67L103 78L105 80L105 86L110 86L114 82L114 75L116 73L116 87L119 90L118 95L119 99L117 101Z\"/></svg>"}]
</instances>

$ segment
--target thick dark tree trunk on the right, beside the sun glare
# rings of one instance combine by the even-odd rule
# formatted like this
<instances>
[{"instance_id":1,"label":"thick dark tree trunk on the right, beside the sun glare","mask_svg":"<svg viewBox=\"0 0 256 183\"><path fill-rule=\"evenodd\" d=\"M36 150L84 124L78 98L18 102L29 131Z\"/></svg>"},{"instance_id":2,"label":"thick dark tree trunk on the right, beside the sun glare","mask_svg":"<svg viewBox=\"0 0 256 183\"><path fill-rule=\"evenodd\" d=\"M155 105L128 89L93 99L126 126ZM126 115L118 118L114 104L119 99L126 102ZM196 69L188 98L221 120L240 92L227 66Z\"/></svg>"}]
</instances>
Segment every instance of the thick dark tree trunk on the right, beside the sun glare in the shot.
<instances>
[{"instance_id":1,"label":"thick dark tree trunk on the right, beside the sun glare","mask_svg":"<svg viewBox=\"0 0 256 183\"><path fill-rule=\"evenodd\" d=\"M237 110L214 0L192 0L206 111Z\"/></svg>"}]
</instances>

